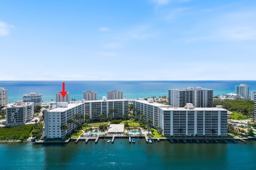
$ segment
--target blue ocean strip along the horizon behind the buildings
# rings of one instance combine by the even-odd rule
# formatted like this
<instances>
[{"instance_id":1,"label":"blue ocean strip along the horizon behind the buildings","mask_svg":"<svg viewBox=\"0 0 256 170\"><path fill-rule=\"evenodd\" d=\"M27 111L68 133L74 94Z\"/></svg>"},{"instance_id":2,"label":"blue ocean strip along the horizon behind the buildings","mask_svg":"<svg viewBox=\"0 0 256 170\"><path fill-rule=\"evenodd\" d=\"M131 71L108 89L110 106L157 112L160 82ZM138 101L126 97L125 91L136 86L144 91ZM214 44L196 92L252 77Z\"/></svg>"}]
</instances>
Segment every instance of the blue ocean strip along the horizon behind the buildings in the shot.
<instances>
[{"instance_id":1,"label":"blue ocean strip along the horizon behind the buildings","mask_svg":"<svg viewBox=\"0 0 256 170\"><path fill-rule=\"evenodd\" d=\"M167 96L168 89L200 86L213 89L214 96L235 92L235 86L247 84L256 90L253 81L64 81L65 91L70 92L70 100L82 100L83 91L98 92L98 99L108 95L108 90L124 92L128 99ZM8 102L22 100L22 95L30 92L42 94L43 102L56 101L56 92L62 91L62 81L0 81L0 87L8 90Z\"/></svg>"}]
</instances>

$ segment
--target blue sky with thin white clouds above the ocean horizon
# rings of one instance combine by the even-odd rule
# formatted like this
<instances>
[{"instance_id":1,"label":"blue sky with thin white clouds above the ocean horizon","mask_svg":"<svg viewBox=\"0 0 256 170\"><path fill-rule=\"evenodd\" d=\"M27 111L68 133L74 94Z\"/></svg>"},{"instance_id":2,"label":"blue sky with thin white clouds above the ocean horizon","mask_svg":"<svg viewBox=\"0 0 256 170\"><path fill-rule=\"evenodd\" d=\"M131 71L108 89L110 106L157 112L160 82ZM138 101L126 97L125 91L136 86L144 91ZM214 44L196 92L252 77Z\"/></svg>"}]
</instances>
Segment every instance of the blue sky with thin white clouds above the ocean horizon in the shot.
<instances>
[{"instance_id":1,"label":"blue sky with thin white clouds above the ocean horizon","mask_svg":"<svg viewBox=\"0 0 256 170\"><path fill-rule=\"evenodd\" d=\"M255 0L1 0L0 80L256 80Z\"/></svg>"}]
</instances>

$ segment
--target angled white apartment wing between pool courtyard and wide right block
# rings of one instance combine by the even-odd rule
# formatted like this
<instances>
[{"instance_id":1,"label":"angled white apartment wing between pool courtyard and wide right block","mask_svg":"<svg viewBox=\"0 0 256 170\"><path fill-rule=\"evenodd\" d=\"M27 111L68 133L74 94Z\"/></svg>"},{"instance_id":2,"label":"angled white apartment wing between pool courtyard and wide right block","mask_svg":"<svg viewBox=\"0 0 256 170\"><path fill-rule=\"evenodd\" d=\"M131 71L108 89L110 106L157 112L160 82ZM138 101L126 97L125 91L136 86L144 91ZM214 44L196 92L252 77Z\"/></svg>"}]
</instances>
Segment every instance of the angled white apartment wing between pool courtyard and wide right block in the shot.
<instances>
[{"instance_id":1,"label":"angled white apartment wing between pool courtyard and wide right block","mask_svg":"<svg viewBox=\"0 0 256 170\"><path fill-rule=\"evenodd\" d=\"M136 119L140 120L141 115L144 115L144 122L147 122L148 119L152 120L151 126L159 126L159 108L160 107L169 107L165 104L160 104L154 102L154 99L148 98L147 100L138 99L133 101L134 108L140 111L140 115L136 114Z\"/></svg>"}]
</instances>

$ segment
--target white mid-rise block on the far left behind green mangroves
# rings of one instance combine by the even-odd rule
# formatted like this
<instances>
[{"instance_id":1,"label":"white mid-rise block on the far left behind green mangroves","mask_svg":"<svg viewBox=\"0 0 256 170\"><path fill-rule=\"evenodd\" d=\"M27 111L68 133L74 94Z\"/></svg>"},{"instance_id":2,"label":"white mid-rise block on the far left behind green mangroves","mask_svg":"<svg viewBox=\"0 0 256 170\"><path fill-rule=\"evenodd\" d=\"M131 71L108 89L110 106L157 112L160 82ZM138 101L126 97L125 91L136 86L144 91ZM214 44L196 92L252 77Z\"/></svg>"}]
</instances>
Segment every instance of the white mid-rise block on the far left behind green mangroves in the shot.
<instances>
[{"instance_id":1,"label":"white mid-rise block on the far left behind green mangroves","mask_svg":"<svg viewBox=\"0 0 256 170\"><path fill-rule=\"evenodd\" d=\"M18 100L6 105L6 126L25 125L34 116L34 103Z\"/></svg>"}]
</instances>

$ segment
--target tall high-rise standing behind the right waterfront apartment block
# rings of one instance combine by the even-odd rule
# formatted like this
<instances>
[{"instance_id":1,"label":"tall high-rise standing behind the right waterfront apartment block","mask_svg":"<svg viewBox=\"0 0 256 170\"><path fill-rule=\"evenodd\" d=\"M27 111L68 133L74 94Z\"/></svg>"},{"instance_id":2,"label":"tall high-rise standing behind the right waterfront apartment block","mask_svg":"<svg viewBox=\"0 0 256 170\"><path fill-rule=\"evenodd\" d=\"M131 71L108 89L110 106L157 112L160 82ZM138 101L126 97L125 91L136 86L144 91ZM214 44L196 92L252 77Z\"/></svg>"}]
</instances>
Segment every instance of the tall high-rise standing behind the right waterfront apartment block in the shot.
<instances>
[{"instance_id":1,"label":"tall high-rise standing behind the right waterfront apartment block","mask_svg":"<svg viewBox=\"0 0 256 170\"><path fill-rule=\"evenodd\" d=\"M201 87L188 87L169 89L169 105L171 107L184 107L192 103L195 107L212 107L213 90Z\"/></svg>"}]
</instances>

